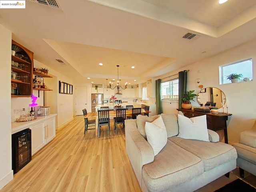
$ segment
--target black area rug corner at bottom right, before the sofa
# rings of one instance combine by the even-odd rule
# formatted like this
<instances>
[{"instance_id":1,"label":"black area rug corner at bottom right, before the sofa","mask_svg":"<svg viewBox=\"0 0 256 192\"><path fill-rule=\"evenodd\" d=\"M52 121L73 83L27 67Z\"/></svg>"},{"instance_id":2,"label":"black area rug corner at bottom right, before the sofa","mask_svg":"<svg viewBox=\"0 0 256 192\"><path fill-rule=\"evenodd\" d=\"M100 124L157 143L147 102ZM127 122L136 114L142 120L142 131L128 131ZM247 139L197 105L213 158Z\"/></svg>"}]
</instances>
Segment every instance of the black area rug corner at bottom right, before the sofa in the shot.
<instances>
[{"instance_id":1,"label":"black area rug corner at bottom right, before the sofa","mask_svg":"<svg viewBox=\"0 0 256 192\"><path fill-rule=\"evenodd\" d=\"M215 192L234 192L234 191L238 191L238 192L256 192L256 189L252 186L250 186L249 184L247 184L246 182L237 179L234 180L233 182L225 185L224 187L216 190Z\"/></svg>"}]
</instances>

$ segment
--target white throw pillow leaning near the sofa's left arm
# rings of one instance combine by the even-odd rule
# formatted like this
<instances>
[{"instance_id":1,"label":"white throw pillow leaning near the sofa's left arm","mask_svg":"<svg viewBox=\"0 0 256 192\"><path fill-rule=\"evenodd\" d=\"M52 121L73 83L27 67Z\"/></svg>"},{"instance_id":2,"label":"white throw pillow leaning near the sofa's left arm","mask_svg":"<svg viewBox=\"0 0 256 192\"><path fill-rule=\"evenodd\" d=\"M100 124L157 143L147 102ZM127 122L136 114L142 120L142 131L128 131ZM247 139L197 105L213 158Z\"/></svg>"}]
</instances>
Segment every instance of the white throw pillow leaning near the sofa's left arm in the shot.
<instances>
[{"instance_id":1,"label":"white throw pillow leaning near the sofa's left arm","mask_svg":"<svg viewBox=\"0 0 256 192\"><path fill-rule=\"evenodd\" d=\"M164 121L160 116L153 122L145 123L145 132L147 141L154 150L156 156L167 143L167 132L164 125Z\"/></svg>"}]
</instances>

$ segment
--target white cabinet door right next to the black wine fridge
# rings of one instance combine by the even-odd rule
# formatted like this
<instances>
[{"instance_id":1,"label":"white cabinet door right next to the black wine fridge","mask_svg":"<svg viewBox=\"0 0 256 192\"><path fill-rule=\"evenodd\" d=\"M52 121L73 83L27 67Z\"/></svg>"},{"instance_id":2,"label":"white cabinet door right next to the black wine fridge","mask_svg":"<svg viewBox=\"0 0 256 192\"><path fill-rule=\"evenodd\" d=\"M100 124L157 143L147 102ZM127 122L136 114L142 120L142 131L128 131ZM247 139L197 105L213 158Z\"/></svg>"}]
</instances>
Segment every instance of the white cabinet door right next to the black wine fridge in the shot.
<instances>
[{"instance_id":1,"label":"white cabinet door right next to the black wine fridge","mask_svg":"<svg viewBox=\"0 0 256 192\"><path fill-rule=\"evenodd\" d=\"M32 156L38 152L44 145L44 122L40 122L30 127L31 129L31 151Z\"/></svg>"}]
</instances>

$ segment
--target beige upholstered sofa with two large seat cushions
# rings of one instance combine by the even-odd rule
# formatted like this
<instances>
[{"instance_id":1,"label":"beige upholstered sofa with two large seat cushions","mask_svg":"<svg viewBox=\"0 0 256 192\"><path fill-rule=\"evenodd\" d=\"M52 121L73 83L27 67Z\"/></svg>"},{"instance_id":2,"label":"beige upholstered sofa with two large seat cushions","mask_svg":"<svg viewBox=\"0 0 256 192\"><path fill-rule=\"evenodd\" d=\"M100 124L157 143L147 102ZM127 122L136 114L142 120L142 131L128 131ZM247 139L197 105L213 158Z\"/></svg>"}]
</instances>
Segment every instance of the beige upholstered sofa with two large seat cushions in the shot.
<instances>
[{"instance_id":1,"label":"beige upholstered sofa with two large seat cushions","mask_svg":"<svg viewBox=\"0 0 256 192\"><path fill-rule=\"evenodd\" d=\"M143 129L159 116L125 121L126 152L143 192L192 192L236 168L235 148L216 132L208 130L210 142L178 137L177 114L161 114L168 139L154 156Z\"/></svg>"}]
</instances>

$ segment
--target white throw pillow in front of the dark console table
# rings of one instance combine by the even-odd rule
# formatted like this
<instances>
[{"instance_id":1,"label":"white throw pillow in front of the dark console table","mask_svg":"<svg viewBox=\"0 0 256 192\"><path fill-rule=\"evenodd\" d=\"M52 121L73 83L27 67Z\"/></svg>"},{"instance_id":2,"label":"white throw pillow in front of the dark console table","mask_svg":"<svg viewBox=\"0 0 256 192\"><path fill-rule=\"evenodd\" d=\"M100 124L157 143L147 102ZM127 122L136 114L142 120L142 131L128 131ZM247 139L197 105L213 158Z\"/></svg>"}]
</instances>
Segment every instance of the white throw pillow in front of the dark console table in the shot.
<instances>
[{"instance_id":1,"label":"white throw pillow in front of the dark console table","mask_svg":"<svg viewBox=\"0 0 256 192\"><path fill-rule=\"evenodd\" d=\"M184 139L209 141L206 115L187 118L178 114L179 134Z\"/></svg>"}]
</instances>

